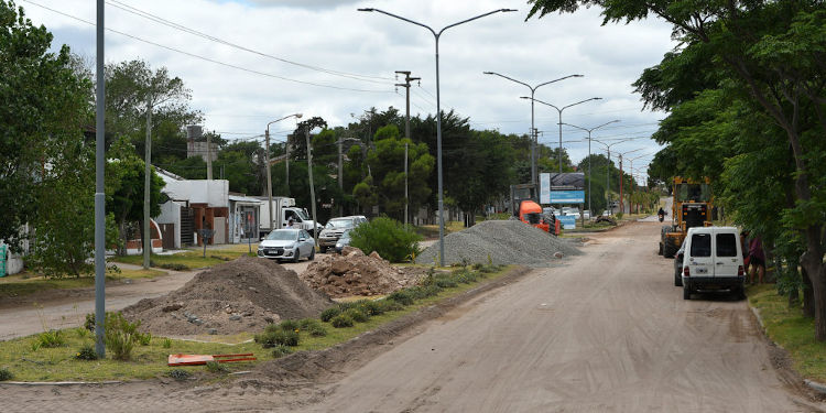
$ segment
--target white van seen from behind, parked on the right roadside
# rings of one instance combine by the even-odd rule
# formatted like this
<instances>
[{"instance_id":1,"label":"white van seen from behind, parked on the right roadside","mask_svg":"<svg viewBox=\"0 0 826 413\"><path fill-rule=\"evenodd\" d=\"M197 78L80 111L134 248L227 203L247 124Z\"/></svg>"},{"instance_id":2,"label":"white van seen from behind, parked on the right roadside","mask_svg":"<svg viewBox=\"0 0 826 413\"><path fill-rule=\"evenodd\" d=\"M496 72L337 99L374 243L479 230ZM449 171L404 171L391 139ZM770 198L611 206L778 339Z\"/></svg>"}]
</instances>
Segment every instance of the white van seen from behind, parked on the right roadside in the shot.
<instances>
[{"instance_id":1,"label":"white van seen from behind, parked on the right roadside","mask_svg":"<svg viewBox=\"0 0 826 413\"><path fill-rule=\"evenodd\" d=\"M735 227L694 227L685 236L682 263L683 298L692 293L728 290L743 298L746 273Z\"/></svg>"}]
</instances>

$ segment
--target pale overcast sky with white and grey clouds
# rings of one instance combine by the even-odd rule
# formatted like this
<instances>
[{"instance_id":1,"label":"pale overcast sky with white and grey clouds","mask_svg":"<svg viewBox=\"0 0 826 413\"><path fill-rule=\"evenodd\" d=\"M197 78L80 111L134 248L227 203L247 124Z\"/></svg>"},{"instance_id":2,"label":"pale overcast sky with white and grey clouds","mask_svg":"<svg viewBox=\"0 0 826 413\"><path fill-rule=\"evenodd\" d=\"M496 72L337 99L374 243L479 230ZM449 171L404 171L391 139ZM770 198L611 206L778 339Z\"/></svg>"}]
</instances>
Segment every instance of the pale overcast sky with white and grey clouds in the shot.
<instances>
[{"instance_id":1,"label":"pale overcast sky with white and grey clouds","mask_svg":"<svg viewBox=\"0 0 826 413\"><path fill-rule=\"evenodd\" d=\"M54 34L56 45L68 44L94 62L95 28L76 19L94 22L95 1L18 0L18 4ZM205 113L205 128L227 139L250 139L263 133L269 121L294 112L320 116L335 127L370 107L403 111L404 89L393 86L395 70L422 78L421 86L411 88L411 115L435 113L433 34L358 8L381 9L436 31L491 10L518 9L444 32L439 40L443 110L455 109L470 118L474 129L528 133L531 105L520 97L530 96L530 89L482 72L530 85L582 74L539 88L535 98L563 107L601 97L565 109L563 122L593 128L621 120L593 137L607 143L642 138L611 149L612 154L640 149L626 156L643 155L633 161L634 167L644 169L659 150L648 137L664 113L642 111L631 84L674 47L671 28L653 20L601 26L597 9L525 22L530 7L524 1L107 0L107 28L129 36L107 32L105 55L108 63L141 58L152 67L167 67L192 89L192 107ZM557 122L555 109L536 104L540 142L558 145ZM275 124L276 139L294 126L292 119ZM574 162L588 153L585 137L563 128L563 145ZM600 148L595 142L593 152L604 152Z\"/></svg>"}]
</instances>

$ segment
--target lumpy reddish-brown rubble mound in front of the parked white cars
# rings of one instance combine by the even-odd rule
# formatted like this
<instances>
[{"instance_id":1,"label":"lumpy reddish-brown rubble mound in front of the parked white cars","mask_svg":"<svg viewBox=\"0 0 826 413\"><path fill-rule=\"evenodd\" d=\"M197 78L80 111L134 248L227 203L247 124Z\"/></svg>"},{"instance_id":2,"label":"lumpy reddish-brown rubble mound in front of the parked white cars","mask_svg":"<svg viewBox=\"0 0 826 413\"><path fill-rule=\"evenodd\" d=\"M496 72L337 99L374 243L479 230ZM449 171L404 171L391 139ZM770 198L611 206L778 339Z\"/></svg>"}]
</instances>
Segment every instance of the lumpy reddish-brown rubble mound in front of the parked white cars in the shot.
<instances>
[{"instance_id":1,"label":"lumpy reddish-brown rubble mound in front of the parked white cars","mask_svg":"<svg viewBox=\"0 0 826 413\"><path fill-rule=\"evenodd\" d=\"M413 285L421 269L398 269L378 253L365 256L358 248L345 247L341 256L329 256L309 264L302 281L332 297L389 294Z\"/></svg>"}]
</instances>

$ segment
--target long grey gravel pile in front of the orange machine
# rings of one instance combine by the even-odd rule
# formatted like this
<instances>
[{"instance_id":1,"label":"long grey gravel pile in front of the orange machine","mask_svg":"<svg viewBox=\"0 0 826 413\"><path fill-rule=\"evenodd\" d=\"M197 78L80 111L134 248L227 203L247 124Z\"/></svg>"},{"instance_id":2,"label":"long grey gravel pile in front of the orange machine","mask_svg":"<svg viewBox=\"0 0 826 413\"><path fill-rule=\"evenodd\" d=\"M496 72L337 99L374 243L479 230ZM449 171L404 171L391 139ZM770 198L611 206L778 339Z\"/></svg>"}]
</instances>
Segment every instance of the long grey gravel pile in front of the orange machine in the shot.
<instances>
[{"instance_id":1,"label":"long grey gravel pile in front of the orange machine","mask_svg":"<svg viewBox=\"0 0 826 413\"><path fill-rule=\"evenodd\" d=\"M416 263L433 264L438 242L428 247ZM445 264L487 263L546 265L565 256L578 256L572 242L556 238L520 220L488 220L445 237Z\"/></svg>"}]
</instances>

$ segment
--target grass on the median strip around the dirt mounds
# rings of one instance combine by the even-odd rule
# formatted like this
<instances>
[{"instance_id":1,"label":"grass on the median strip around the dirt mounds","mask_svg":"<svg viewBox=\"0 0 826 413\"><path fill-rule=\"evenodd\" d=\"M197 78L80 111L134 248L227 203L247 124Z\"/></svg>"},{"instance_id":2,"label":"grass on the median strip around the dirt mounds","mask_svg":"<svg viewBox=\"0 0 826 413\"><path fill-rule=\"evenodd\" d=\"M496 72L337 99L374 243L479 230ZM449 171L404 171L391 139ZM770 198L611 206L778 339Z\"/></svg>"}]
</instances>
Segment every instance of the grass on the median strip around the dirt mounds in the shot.
<instances>
[{"instance_id":1,"label":"grass on the median strip around the dirt mounds","mask_svg":"<svg viewBox=\"0 0 826 413\"><path fill-rule=\"evenodd\" d=\"M486 273L485 280L500 278L508 270L509 268L499 268L494 272ZM421 287L414 291L417 297L411 305L401 306L399 303L388 300L389 305L382 307L383 312L374 311L374 308L369 309L371 305L365 302L351 303L350 305L359 307L365 304L363 307L373 313L363 323L354 323L352 327L333 328L328 323L322 323L317 319L298 320L298 343L295 347L276 345L273 348L263 349L260 344L253 341L228 345L153 337L148 346L135 346L129 361L113 360L110 350L107 350L105 359L83 360L77 358L78 349L94 345L94 336L77 334L75 328L62 330L65 345L57 348L37 346L39 335L0 341L0 366L12 372L14 379L20 381L140 380L157 377L186 379L187 374L203 374L206 370L197 367L170 368L166 366L169 355L252 352L259 361L267 361L283 357L287 351L322 350L350 340L362 333L373 330L383 324L436 304L442 300L459 295L476 285L475 282L460 283L456 287L441 290L435 295L428 295L434 291L425 292L426 286ZM275 327L271 327L271 330ZM211 337L217 338L217 336ZM224 366L231 372L248 370L253 365L254 362L237 362Z\"/></svg>"}]
</instances>

